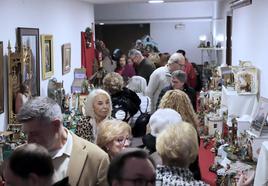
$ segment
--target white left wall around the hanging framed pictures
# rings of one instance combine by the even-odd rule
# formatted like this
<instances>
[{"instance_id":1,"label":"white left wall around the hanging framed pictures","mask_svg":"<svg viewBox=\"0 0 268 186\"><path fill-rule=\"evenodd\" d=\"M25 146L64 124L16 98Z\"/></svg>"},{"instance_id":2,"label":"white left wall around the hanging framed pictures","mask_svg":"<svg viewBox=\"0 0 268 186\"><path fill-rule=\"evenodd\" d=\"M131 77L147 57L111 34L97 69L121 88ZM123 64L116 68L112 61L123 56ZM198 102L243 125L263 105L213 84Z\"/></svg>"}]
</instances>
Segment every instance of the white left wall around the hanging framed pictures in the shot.
<instances>
[{"instance_id":1,"label":"white left wall around the hanging framed pictures","mask_svg":"<svg viewBox=\"0 0 268 186\"><path fill-rule=\"evenodd\" d=\"M87 2L77 0L1 0L0 1L0 40L4 42L4 55L7 55L7 43L14 47L17 27L39 28L40 34L52 34L54 42L54 76L64 81L66 92L70 92L73 81L73 69L81 66L80 32L94 22L94 7ZM61 45L71 43L72 69L62 76ZM41 55L41 51L40 51ZM4 61L7 63L7 61ZM40 60L41 62L41 60ZM48 80L42 80L40 66L40 94L47 95ZM5 77L5 82L7 77ZM0 115L0 131L7 123L7 86L5 84L5 112Z\"/></svg>"}]
</instances>

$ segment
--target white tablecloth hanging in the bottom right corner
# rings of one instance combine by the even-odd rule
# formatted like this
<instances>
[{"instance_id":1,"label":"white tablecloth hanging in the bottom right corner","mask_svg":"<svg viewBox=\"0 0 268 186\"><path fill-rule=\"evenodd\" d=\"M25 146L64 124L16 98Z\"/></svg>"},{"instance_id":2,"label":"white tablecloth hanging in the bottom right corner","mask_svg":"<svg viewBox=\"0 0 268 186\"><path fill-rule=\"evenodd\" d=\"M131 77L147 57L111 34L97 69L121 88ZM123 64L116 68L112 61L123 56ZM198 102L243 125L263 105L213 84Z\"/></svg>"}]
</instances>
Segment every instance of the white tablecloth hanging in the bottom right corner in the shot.
<instances>
[{"instance_id":1,"label":"white tablecloth hanging in the bottom right corner","mask_svg":"<svg viewBox=\"0 0 268 186\"><path fill-rule=\"evenodd\" d=\"M265 185L268 185L268 141L262 143L254 179L254 186Z\"/></svg>"}]
</instances>

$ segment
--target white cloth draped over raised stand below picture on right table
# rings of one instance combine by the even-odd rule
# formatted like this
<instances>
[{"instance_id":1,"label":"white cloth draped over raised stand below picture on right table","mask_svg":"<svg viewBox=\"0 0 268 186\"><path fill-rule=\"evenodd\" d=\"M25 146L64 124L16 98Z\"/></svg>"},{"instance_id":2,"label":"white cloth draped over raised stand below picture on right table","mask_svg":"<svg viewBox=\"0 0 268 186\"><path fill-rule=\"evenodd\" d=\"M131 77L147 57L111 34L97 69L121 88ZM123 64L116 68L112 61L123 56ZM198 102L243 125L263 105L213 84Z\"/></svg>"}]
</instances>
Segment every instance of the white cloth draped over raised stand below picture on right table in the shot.
<instances>
[{"instance_id":1,"label":"white cloth draped over raised stand below picture on right table","mask_svg":"<svg viewBox=\"0 0 268 186\"><path fill-rule=\"evenodd\" d=\"M228 116L253 116L258 100L255 94L241 95L234 90L227 90L222 86L221 106L227 107Z\"/></svg>"}]
</instances>

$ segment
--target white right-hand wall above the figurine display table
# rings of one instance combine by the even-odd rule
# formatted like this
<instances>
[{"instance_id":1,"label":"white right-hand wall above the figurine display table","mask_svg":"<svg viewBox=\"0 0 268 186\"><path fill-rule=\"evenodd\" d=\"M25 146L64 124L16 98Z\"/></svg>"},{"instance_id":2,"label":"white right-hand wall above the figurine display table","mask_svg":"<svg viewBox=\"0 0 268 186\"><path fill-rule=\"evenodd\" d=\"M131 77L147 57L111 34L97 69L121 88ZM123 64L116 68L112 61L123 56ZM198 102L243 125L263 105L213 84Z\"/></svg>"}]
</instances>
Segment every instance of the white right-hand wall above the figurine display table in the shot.
<instances>
[{"instance_id":1,"label":"white right-hand wall above the figurine display table","mask_svg":"<svg viewBox=\"0 0 268 186\"><path fill-rule=\"evenodd\" d=\"M260 69L260 95L268 98L268 1L255 0L252 5L233 12L232 63L249 60Z\"/></svg>"}]
</instances>

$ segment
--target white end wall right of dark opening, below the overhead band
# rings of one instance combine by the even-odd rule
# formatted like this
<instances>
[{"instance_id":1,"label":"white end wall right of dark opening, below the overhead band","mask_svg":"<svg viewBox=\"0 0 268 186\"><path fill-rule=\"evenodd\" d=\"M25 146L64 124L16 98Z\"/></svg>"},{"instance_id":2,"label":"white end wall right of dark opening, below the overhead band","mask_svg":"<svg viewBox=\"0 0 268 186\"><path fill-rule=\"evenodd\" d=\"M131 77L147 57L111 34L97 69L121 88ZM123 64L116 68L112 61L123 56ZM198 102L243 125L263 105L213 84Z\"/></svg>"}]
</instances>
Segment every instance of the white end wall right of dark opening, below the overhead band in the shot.
<instances>
[{"instance_id":1,"label":"white end wall right of dark opening, below the overhead band","mask_svg":"<svg viewBox=\"0 0 268 186\"><path fill-rule=\"evenodd\" d=\"M211 33L211 21L187 21L182 29L175 29L178 22L151 23L151 36L162 52L176 52L184 49L189 61L201 63L201 51L198 49L199 36Z\"/></svg>"}]
</instances>

